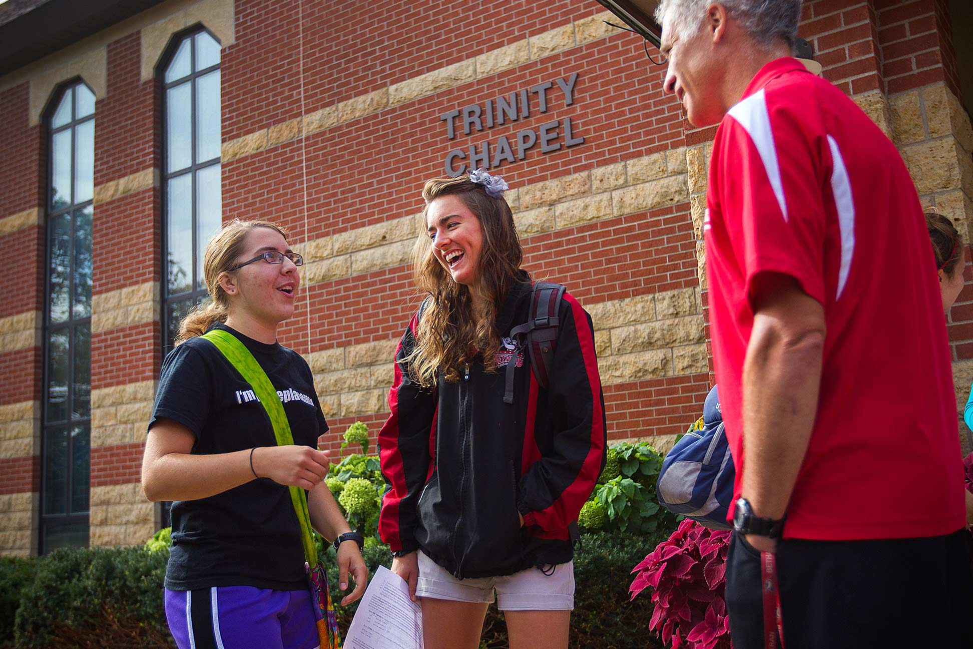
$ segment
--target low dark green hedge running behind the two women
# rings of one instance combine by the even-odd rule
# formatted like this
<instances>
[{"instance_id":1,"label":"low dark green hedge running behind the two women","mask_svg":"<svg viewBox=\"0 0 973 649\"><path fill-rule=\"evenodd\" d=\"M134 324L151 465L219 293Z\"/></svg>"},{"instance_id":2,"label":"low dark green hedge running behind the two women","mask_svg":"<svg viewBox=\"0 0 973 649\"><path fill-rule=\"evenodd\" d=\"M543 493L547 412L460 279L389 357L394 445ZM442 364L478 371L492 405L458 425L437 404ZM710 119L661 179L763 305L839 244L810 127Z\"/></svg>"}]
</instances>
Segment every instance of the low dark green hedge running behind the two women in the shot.
<instances>
[{"instance_id":1,"label":"low dark green hedge running behind the two women","mask_svg":"<svg viewBox=\"0 0 973 649\"><path fill-rule=\"evenodd\" d=\"M661 647L645 631L649 597L629 601L631 568L668 535L583 534L575 556L575 610L571 647ZM371 544L370 544L371 545ZM334 550L325 551L333 556ZM39 559L0 559L0 646L171 647L162 605L168 551L145 548L58 550ZM374 573L391 565L385 546L365 549ZM338 569L328 558L332 597L339 601ZM347 629L357 603L338 608ZM15 613L16 611L16 613ZM13 640L12 640L13 638ZM13 644L11 642L13 641ZM491 606L481 647L508 646L502 614Z\"/></svg>"}]
</instances>

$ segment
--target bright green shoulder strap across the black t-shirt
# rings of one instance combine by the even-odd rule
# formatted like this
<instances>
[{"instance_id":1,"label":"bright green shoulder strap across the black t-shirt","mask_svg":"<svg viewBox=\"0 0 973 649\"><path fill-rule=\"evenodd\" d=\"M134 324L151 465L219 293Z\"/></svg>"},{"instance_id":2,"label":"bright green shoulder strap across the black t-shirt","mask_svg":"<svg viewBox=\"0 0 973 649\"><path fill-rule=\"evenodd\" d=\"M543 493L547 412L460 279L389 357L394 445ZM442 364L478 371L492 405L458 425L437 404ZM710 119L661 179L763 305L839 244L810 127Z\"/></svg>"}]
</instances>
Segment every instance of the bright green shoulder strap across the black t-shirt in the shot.
<instances>
[{"instance_id":1,"label":"bright green shoulder strap across the black t-shirt","mask_svg":"<svg viewBox=\"0 0 973 649\"><path fill-rule=\"evenodd\" d=\"M287 421L287 413L284 412L284 405L277 396L277 391L270 382L267 373L260 367L260 363L253 357L250 350L243 343L239 342L233 334L220 329L211 329L201 336L201 338L216 345L230 364L234 366L240 377L250 383L254 394L264 406L270 423L273 425L273 436L277 438L277 446L288 446L294 444L294 436L291 434L291 424ZM301 487L288 487L291 492L291 503L294 505L294 513L298 516L298 523L301 523L301 541L304 544L305 558L309 565L317 564L317 552L314 550L314 541L310 534L310 514L307 512L307 495Z\"/></svg>"}]
</instances>

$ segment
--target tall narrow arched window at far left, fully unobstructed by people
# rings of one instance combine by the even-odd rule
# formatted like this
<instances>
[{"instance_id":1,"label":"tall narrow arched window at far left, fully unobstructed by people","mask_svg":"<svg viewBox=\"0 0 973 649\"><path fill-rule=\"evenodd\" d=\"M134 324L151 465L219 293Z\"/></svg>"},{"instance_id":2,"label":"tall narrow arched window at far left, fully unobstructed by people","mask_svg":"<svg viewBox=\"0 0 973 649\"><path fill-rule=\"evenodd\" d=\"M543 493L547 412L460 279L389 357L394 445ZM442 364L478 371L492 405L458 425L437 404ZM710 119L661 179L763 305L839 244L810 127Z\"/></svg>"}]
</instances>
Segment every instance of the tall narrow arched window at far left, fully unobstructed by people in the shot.
<instances>
[{"instance_id":1,"label":"tall narrow arched window at far left, fully unobstructed by people","mask_svg":"<svg viewBox=\"0 0 973 649\"><path fill-rule=\"evenodd\" d=\"M91 198L94 94L74 82L54 96L47 204L41 552L87 546L91 417Z\"/></svg>"}]
</instances>

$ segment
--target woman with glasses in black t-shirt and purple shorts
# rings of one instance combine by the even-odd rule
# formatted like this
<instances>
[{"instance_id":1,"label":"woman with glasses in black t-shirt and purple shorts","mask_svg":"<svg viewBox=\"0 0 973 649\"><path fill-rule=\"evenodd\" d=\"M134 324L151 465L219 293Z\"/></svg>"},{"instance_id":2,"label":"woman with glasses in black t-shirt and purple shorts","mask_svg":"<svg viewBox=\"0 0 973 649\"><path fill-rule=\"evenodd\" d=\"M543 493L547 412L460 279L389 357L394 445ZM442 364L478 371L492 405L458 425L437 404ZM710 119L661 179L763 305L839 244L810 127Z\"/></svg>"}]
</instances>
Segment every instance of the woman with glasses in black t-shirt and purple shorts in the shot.
<instances>
[{"instance_id":1,"label":"woman with glasses in black t-shirt and purple shorts","mask_svg":"<svg viewBox=\"0 0 973 649\"><path fill-rule=\"evenodd\" d=\"M346 589L350 572L355 589L342 604L365 590L361 535L349 534L323 483L329 453L315 447L328 424L310 368L277 343L278 326L294 314L303 264L275 224L225 225L206 246L210 302L186 316L162 363L142 488L150 500L174 501L165 614L180 649L318 646L291 486L307 490L312 526L343 540L339 584ZM276 445L250 384L199 338L209 329L232 334L267 373L294 445Z\"/></svg>"}]
</instances>

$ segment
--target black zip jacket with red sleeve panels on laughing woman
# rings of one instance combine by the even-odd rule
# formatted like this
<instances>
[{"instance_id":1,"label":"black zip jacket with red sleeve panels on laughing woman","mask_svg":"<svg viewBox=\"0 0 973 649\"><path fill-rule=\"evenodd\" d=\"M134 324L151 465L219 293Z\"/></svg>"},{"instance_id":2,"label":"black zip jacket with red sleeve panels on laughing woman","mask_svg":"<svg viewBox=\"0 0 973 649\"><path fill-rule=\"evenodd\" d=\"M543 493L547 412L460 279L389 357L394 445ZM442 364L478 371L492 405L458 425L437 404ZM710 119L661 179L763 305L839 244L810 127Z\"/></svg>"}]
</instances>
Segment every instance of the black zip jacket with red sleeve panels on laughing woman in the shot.
<instances>
[{"instance_id":1,"label":"black zip jacket with red sleeve panels on laughing woman","mask_svg":"<svg viewBox=\"0 0 973 649\"><path fill-rule=\"evenodd\" d=\"M405 363L417 313L395 352L392 413L378 433L387 484L378 531L393 551L421 549L460 579L570 560L569 526L604 466L604 397L591 316L564 294L544 389L526 349L509 349L510 330L529 317L530 287L524 276L498 315L507 344L496 371L486 372L478 360L461 369L457 382L421 388ZM517 368L509 405L507 362Z\"/></svg>"}]
</instances>

